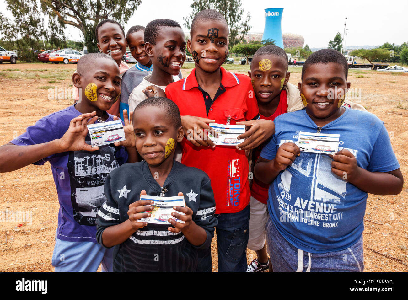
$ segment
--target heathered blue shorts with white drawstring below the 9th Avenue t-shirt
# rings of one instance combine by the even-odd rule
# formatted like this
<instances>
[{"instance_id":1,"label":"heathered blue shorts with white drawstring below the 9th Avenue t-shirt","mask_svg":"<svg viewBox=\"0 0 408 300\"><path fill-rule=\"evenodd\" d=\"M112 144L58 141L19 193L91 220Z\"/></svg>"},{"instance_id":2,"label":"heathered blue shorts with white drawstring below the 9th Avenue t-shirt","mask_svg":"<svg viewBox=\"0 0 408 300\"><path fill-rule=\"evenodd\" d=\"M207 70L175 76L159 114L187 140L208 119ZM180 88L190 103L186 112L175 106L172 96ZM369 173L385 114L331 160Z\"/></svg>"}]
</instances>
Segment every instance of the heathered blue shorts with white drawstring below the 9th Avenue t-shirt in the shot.
<instances>
[{"instance_id":1,"label":"heathered blue shorts with white drawstring below the 9th Avenue t-shirt","mask_svg":"<svg viewBox=\"0 0 408 300\"><path fill-rule=\"evenodd\" d=\"M265 225L268 254L274 272L362 272L363 236L347 249L308 253L290 244L275 228L271 218Z\"/></svg>"}]
</instances>

